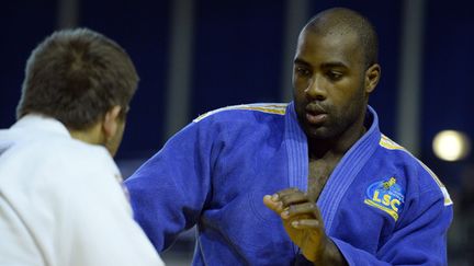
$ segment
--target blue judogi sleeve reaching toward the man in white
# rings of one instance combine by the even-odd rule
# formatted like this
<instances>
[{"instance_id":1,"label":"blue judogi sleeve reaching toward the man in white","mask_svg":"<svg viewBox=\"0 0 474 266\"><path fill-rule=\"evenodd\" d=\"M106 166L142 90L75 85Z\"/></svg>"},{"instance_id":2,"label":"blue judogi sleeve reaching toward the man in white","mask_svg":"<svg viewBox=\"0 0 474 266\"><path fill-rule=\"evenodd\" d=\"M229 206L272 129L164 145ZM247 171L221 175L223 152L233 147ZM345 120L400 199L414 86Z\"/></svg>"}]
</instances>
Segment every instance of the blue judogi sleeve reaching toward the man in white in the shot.
<instances>
[{"instance_id":1,"label":"blue judogi sleeve reaching toward the man in white","mask_svg":"<svg viewBox=\"0 0 474 266\"><path fill-rule=\"evenodd\" d=\"M159 252L200 217L212 160L219 149L211 143L212 137L218 139L212 134L218 131L202 131L196 123L188 125L125 182L135 219Z\"/></svg>"}]
</instances>

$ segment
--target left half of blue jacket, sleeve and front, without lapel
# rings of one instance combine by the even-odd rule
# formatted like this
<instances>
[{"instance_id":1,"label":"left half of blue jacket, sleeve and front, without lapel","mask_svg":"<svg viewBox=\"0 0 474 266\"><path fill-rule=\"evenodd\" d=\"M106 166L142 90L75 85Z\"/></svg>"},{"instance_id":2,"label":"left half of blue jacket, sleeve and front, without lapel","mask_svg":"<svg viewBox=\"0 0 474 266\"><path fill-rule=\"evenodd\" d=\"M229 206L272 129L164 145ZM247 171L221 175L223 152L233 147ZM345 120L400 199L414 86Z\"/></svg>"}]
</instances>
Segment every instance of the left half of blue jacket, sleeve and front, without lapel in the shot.
<instances>
[{"instance_id":1,"label":"left half of blue jacket, sleeve and front, without lapel","mask_svg":"<svg viewBox=\"0 0 474 266\"><path fill-rule=\"evenodd\" d=\"M200 116L125 181L158 252L198 225L193 265L291 265L297 248L262 203L290 184L285 108L240 105Z\"/></svg>"}]
</instances>

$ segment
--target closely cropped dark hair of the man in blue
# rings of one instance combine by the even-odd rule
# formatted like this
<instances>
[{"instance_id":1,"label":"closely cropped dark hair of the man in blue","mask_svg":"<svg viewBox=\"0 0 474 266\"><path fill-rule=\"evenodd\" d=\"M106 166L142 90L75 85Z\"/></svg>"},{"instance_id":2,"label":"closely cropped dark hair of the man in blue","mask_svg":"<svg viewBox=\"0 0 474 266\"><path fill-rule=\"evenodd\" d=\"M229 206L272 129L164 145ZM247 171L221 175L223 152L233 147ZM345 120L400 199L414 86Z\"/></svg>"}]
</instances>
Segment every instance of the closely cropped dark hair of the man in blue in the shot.
<instances>
[{"instance_id":1,"label":"closely cropped dark hair of the man in blue","mask_svg":"<svg viewBox=\"0 0 474 266\"><path fill-rule=\"evenodd\" d=\"M368 18L357 11L346 8L325 10L313 16L303 31L305 30L321 33L330 31L354 32L363 49L364 67L369 68L379 62L379 36L375 27Z\"/></svg>"}]
</instances>

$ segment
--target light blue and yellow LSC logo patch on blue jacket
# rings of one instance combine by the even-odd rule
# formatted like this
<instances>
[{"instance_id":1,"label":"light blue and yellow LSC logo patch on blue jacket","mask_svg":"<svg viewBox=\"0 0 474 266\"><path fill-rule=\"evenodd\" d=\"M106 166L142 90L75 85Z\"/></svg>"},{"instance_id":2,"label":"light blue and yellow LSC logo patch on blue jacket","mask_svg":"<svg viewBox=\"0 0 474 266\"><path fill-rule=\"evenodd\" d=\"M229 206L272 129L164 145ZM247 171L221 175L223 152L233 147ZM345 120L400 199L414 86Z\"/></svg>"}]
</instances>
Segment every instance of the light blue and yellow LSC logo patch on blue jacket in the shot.
<instances>
[{"instance_id":1,"label":"light blue and yellow LSC logo patch on blue jacket","mask_svg":"<svg viewBox=\"0 0 474 266\"><path fill-rule=\"evenodd\" d=\"M365 193L364 204L388 213L395 221L405 203L405 192L396 184L396 178L375 182Z\"/></svg>"}]
</instances>

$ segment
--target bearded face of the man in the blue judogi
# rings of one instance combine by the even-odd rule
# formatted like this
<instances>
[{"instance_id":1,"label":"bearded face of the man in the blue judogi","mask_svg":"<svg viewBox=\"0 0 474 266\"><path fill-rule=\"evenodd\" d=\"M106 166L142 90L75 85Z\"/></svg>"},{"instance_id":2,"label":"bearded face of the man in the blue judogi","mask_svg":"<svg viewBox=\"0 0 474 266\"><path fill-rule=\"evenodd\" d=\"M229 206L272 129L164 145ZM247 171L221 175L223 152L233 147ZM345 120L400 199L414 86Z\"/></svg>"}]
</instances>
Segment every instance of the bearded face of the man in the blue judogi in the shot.
<instances>
[{"instance_id":1,"label":"bearded face of the man in the blue judogi","mask_svg":"<svg viewBox=\"0 0 474 266\"><path fill-rule=\"evenodd\" d=\"M362 48L356 34L304 31L293 67L295 109L311 139L357 130L366 108ZM359 124L360 125L360 124Z\"/></svg>"}]
</instances>

